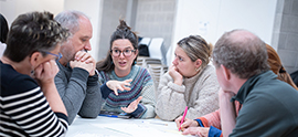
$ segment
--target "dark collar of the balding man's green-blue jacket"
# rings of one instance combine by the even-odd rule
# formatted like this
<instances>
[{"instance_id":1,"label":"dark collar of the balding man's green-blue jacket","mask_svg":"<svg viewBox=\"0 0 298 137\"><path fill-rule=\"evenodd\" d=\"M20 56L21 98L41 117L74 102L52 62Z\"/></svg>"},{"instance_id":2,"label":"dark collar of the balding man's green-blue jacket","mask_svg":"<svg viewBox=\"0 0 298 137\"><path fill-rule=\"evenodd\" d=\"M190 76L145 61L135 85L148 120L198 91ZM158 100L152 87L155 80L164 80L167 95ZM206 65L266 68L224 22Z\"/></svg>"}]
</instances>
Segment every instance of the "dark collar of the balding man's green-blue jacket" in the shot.
<instances>
[{"instance_id":1,"label":"dark collar of the balding man's green-blue jacket","mask_svg":"<svg viewBox=\"0 0 298 137\"><path fill-rule=\"evenodd\" d=\"M277 78L277 75L272 71L266 71L258 75L252 76L241 86L238 93L232 97L231 102L238 101L241 104L243 104L247 95L254 89L255 86L273 78Z\"/></svg>"}]
</instances>

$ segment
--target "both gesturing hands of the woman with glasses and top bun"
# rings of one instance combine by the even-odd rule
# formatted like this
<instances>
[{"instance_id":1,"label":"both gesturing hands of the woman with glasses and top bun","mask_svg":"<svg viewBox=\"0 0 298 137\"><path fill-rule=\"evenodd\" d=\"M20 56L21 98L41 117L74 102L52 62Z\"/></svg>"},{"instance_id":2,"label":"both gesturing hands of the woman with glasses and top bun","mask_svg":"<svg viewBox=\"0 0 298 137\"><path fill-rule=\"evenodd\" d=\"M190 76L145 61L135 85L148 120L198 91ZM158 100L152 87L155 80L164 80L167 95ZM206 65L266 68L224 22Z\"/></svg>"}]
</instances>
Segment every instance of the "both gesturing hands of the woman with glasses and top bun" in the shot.
<instances>
[{"instance_id":1,"label":"both gesturing hands of the woman with glasses and top bun","mask_svg":"<svg viewBox=\"0 0 298 137\"><path fill-rule=\"evenodd\" d=\"M119 91L130 91L131 88L128 87L130 86L130 82L132 80L126 80L126 81L108 81L106 83L107 87L113 89L115 95L118 96L118 89ZM121 107L121 109L125 113L132 113L138 108L138 104L140 103L142 96L139 96L137 99L135 99L134 102L131 102L127 107Z\"/></svg>"}]
</instances>

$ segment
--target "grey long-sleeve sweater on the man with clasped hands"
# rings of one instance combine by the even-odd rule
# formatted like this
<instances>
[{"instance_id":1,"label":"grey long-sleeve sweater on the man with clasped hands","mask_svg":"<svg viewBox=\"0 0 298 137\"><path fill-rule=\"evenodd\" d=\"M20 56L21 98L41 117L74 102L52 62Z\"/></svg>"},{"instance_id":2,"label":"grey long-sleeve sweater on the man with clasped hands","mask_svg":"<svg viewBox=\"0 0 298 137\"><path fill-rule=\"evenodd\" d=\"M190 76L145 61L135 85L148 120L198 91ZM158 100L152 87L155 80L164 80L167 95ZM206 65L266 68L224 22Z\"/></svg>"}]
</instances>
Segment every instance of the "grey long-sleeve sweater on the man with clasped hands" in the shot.
<instances>
[{"instance_id":1,"label":"grey long-sleeve sweater on the man with clasped hands","mask_svg":"<svg viewBox=\"0 0 298 137\"><path fill-rule=\"evenodd\" d=\"M72 68L70 63L65 66L56 62L60 72L55 76L58 94L68 114L71 125L78 114L83 118L96 118L100 112L102 93L98 75L79 67Z\"/></svg>"}]
</instances>

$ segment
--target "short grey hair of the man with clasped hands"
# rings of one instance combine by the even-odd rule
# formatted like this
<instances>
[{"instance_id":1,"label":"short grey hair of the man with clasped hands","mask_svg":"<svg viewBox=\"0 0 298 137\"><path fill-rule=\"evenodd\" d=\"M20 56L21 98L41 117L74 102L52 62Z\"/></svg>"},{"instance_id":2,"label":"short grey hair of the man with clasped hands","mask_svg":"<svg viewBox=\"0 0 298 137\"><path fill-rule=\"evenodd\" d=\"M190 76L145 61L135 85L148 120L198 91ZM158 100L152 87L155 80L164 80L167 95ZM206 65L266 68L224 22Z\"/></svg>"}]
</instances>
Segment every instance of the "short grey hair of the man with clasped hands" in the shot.
<instances>
[{"instance_id":1,"label":"short grey hair of the man with clasped hands","mask_svg":"<svg viewBox=\"0 0 298 137\"><path fill-rule=\"evenodd\" d=\"M79 18L89 19L85 13L76 10L68 10L58 13L54 19L63 27L70 30L72 34L79 30Z\"/></svg>"}]
</instances>

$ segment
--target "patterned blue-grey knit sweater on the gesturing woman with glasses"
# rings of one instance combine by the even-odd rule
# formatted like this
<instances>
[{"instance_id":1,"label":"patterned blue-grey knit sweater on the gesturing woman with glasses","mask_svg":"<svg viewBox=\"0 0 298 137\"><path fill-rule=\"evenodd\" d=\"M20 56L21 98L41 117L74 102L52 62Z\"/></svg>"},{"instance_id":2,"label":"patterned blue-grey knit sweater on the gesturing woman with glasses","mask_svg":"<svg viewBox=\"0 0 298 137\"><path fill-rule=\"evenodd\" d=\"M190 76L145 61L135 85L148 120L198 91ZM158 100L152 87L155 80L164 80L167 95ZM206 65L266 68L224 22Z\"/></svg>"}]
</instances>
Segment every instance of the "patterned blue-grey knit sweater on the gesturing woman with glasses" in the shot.
<instances>
[{"instance_id":1,"label":"patterned blue-grey knit sweater on the gesturing woman with glasses","mask_svg":"<svg viewBox=\"0 0 298 137\"><path fill-rule=\"evenodd\" d=\"M118 96L106 85L106 82L110 80L125 81L130 78L132 80L129 86L131 89L123 92L118 89ZM146 68L134 65L130 73L124 77L118 77L114 71L108 73L99 71L99 83L102 85L103 97L106 98L103 104L103 109L124 113L120 107L127 107L131 102L142 96L138 108L130 115L135 118L152 118L156 116L153 81Z\"/></svg>"}]
</instances>

